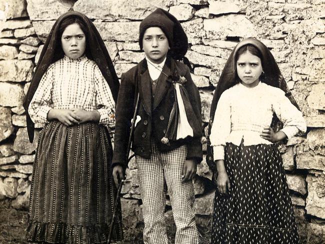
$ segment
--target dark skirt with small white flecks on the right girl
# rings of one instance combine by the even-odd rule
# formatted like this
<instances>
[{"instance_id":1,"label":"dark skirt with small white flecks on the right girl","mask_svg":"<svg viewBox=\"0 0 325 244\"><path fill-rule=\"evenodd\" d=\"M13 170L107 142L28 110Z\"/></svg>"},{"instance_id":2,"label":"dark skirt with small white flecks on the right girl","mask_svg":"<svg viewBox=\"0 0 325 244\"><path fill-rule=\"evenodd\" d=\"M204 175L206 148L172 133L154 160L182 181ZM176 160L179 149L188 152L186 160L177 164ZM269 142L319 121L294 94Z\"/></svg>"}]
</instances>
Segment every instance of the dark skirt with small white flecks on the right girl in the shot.
<instances>
[{"instance_id":1,"label":"dark skirt with small white flecks on the right girl","mask_svg":"<svg viewBox=\"0 0 325 244\"><path fill-rule=\"evenodd\" d=\"M229 195L214 198L211 243L298 243L289 188L276 145L227 143Z\"/></svg>"}]
</instances>

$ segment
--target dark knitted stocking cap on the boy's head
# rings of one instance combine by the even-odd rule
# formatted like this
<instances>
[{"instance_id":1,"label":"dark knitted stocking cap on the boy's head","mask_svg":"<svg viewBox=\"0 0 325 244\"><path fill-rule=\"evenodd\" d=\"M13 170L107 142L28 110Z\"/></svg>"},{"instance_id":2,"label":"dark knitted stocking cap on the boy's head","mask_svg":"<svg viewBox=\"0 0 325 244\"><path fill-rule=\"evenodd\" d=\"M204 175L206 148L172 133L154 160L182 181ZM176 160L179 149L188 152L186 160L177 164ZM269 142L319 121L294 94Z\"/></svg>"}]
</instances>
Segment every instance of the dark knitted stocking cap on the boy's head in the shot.
<instances>
[{"instance_id":1,"label":"dark knitted stocking cap on the boy's head","mask_svg":"<svg viewBox=\"0 0 325 244\"><path fill-rule=\"evenodd\" d=\"M168 39L170 50L168 55L173 59L182 60L188 49L188 40L179 21L161 8L157 8L145 17L139 27L139 45L142 49L142 38L145 30L149 27L159 27ZM187 59L186 59L187 60ZM185 60L184 60L185 63ZM186 63L187 64L187 63Z\"/></svg>"}]
</instances>

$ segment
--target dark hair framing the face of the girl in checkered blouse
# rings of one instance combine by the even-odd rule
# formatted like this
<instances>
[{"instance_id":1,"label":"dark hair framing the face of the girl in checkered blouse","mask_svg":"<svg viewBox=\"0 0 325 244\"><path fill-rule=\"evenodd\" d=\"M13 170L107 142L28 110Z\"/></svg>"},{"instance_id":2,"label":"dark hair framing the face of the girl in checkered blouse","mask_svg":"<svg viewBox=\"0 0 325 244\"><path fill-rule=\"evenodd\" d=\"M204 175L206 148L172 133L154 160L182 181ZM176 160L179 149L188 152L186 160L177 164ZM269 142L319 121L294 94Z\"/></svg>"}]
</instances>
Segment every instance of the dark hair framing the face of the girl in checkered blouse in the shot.
<instances>
[{"instance_id":1,"label":"dark hair framing the face of the girl in checkered blouse","mask_svg":"<svg viewBox=\"0 0 325 244\"><path fill-rule=\"evenodd\" d=\"M88 36L89 36L89 33L88 33L88 29L87 29L87 26L85 25L84 21L78 17L78 16L68 16L66 18L64 18L60 24L60 26L58 27L58 39L59 41L57 42L57 50L58 52L60 53L60 56L63 57L64 56L64 51L62 49L62 43L61 43L61 37L62 37L62 34L65 30L65 28L70 25L70 24L74 24L74 23L77 23L80 27L80 29L83 31L84 35L85 35L85 38L86 38L86 47L85 47L85 50L84 50L84 54L90 58L91 58L91 54L90 54L90 50L89 50L89 42L88 42Z\"/></svg>"}]
</instances>

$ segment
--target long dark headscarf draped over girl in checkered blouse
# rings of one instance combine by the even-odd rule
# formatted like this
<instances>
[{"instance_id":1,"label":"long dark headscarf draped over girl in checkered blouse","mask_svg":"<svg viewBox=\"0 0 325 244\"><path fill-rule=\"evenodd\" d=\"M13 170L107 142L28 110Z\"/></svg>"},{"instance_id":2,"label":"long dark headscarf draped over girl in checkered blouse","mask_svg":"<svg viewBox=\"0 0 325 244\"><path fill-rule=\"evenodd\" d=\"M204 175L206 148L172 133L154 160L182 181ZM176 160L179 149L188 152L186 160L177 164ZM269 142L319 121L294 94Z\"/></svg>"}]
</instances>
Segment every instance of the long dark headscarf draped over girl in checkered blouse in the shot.
<instances>
[{"instance_id":1,"label":"long dark headscarf draped over girl in checkered blouse","mask_svg":"<svg viewBox=\"0 0 325 244\"><path fill-rule=\"evenodd\" d=\"M86 26L87 33L86 41L87 41L87 50L85 51L86 56L89 59L92 59L96 62L99 67L102 75L107 81L109 88L111 90L114 101L117 100L119 82L118 78L113 66L113 63L109 57L108 51L105 47L103 40L101 39L100 34L98 33L96 27L91 22L91 20L80 12L69 11L62 14L53 24L51 31L45 41L44 47L40 53L40 57L38 59L37 66L33 73L30 86L28 88L27 94L23 101L23 107L26 110L26 119L27 119L27 131L29 141L32 142L34 137L34 123L30 119L28 114L28 106L29 103L38 87L39 81L43 74L46 72L48 66L59 60L63 57L64 53L61 51L61 36L59 36L59 27L62 21L70 16L75 16L79 20L81 20Z\"/></svg>"}]
</instances>

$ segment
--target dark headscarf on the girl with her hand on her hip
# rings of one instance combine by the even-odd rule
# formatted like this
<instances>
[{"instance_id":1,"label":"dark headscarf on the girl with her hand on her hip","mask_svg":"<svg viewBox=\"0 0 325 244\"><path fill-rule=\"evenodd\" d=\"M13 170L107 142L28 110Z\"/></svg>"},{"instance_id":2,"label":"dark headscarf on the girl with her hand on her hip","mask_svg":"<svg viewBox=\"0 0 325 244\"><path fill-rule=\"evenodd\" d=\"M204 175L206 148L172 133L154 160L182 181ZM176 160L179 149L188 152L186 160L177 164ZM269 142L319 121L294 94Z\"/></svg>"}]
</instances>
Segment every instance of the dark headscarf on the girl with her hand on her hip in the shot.
<instances>
[{"instance_id":1,"label":"dark headscarf on the girl with her hand on her hip","mask_svg":"<svg viewBox=\"0 0 325 244\"><path fill-rule=\"evenodd\" d=\"M231 51L230 56L228 57L228 60L226 64L224 65L224 68L222 70L222 73L220 75L219 81L216 85L215 92L213 95L211 108L210 108L210 119L208 124L208 136L210 136L211 133L211 126L214 119L214 113L215 109L218 103L218 100L222 94L223 91L226 89L234 86L235 84L239 83L239 78L237 77L237 71L236 71L236 62L235 57L236 53L239 50L240 47L251 44L255 46L262 55L262 66L264 74L260 78L261 82L264 82L268 85L280 88L285 92L285 96L289 98L291 103L297 107L297 103L295 102L291 91L286 85L286 82L281 75L280 69L277 66L277 63L272 55L272 53L268 50L268 48L259 40L256 40L254 38L248 38L240 41ZM283 124L279 121L279 119L276 117L275 114L273 114L273 119L270 124L270 126L273 128L274 131L279 130L283 127ZM207 143L207 155L206 155L206 162L208 166L215 170L215 163L213 162L213 149L210 146L210 140L208 139Z\"/></svg>"}]
</instances>

